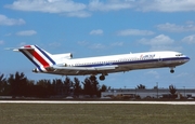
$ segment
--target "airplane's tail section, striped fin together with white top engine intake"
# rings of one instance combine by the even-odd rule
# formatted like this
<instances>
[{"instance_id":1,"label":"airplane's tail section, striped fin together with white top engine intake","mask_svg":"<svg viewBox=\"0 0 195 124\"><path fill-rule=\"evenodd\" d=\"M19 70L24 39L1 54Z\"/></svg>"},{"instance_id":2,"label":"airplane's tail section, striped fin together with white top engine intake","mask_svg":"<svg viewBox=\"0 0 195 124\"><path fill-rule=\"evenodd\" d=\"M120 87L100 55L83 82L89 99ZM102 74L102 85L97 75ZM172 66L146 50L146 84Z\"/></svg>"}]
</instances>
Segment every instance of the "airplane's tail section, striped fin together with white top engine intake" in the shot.
<instances>
[{"instance_id":1,"label":"airplane's tail section, striped fin together with white top engine intake","mask_svg":"<svg viewBox=\"0 0 195 124\"><path fill-rule=\"evenodd\" d=\"M49 71L48 69L53 65L62 64L73 57L72 53L52 55L37 45L25 45L13 51L22 52L37 67L34 72Z\"/></svg>"}]
</instances>

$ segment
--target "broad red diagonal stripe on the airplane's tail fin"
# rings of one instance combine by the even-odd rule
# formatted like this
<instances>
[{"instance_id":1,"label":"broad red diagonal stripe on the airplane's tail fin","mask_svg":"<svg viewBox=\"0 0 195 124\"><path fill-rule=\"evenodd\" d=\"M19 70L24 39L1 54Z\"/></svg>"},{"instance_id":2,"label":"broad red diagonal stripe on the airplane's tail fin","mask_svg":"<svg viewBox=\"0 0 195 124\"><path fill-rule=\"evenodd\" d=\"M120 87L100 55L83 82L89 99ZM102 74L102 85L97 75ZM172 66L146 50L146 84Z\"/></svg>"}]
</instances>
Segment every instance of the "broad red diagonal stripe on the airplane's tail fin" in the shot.
<instances>
[{"instance_id":1,"label":"broad red diagonal stripe on the airplane's tail fin","mask_svg":"<svg viewBox=\"0 0 195 124\"><path fill-rule=\"evenodd\" d=\"M27 50L28 51L28 50ZM49 67L50 65L36 51L28 51L43 67Z\"/></svg>"}]
</instances>

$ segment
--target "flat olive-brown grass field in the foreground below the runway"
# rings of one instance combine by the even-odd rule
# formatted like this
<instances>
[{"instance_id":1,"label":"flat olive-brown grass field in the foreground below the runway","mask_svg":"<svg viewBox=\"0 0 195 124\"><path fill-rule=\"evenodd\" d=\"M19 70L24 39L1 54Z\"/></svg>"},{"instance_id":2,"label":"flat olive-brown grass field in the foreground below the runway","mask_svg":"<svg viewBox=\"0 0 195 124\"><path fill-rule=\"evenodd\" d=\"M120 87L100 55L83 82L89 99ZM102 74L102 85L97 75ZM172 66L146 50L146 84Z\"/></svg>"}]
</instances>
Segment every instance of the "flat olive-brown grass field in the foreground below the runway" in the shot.
<instances>
[{"instance_id":1,"label":"flat olive-brown grass field in the foreground below the runway","mask_svg":"<svg viewBox=\"0 0 195 124\"><path fill-rule=\"evenodd\" d=\"M195 106L0 104L0 124L195 124Z\"/></svg>"}]
</instances>

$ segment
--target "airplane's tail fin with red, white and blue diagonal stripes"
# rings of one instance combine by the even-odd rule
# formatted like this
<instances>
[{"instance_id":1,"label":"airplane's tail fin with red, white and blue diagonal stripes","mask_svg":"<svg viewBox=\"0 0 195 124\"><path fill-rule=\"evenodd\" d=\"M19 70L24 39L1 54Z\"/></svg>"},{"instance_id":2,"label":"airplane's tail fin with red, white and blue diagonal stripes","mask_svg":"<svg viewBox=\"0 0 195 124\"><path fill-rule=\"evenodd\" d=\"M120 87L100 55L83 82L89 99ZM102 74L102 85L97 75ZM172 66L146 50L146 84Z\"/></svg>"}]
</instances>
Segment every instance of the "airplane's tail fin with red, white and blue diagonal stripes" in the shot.
<instances>
[{"instance_id":1,"label":"airplane's tail fin with red, white and blue diagonal stripes","mask_svg":"<svg viewBox=\"0 0 195 124\"><path fill-rule=\"evenodd\" d=\"M47 68L56 63L52 59L52 55L37 45L25 45L17 50L22 52L38 69L41 71L41 67Z\"/></svg>"}]
</instances>

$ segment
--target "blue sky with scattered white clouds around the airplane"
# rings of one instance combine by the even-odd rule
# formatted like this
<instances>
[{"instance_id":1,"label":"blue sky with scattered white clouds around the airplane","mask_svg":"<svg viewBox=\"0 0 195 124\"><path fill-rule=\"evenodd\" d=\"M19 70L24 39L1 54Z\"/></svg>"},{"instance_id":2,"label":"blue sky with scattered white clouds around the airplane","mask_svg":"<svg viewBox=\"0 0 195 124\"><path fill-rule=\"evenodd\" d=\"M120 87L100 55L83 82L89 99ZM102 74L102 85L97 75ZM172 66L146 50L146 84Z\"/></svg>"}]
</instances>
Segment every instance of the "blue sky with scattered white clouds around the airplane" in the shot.
<instances>
[{"instance_id":1,"label":"blue sky with scattered white clouds around the airplane","mask_svg":"<svg viewBox=\"0 0 195 124\"><path fill-rule=\"evenodd\" d=\"M25 44L53 54L70 52L75 58L171 50L191 57L173 74L169 68L134 70L112 73L100 84L151 88L158 82L165 88L170 84L195 88L194 6L194 0L1 0L0 73L64 79L32 73L35 66L25 56L4 50Z\"/></svg>"}]
</instances>

